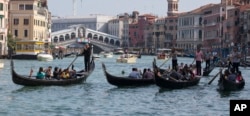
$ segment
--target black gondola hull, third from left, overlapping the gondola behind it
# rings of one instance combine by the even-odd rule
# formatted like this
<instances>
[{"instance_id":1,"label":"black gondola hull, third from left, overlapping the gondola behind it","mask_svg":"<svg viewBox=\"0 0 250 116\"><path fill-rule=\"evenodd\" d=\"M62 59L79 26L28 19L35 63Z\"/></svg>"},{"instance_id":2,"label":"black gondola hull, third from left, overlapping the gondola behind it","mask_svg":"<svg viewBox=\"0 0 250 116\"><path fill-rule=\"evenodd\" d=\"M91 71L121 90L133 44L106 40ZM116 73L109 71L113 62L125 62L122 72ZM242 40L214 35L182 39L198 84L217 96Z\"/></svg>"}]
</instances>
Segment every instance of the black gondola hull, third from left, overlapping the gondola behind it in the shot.
<instances>
[{"instance_id":1,"label":"black gondola hull, third from left, overlapping the gondola behind it","mask_svg":"<svg viewBox=\"0 0 250 116\"><path fill-rule=\"evenodd\" d=\"M153 63L153 67L155 68L155 83L160 88L167 89L181 89L189 86L195 86L200 82L200 77L195 76L192 80L177 80L170 75L161 75L161 70L159 69L155 63Z\"/></svg>"}]
</instances>

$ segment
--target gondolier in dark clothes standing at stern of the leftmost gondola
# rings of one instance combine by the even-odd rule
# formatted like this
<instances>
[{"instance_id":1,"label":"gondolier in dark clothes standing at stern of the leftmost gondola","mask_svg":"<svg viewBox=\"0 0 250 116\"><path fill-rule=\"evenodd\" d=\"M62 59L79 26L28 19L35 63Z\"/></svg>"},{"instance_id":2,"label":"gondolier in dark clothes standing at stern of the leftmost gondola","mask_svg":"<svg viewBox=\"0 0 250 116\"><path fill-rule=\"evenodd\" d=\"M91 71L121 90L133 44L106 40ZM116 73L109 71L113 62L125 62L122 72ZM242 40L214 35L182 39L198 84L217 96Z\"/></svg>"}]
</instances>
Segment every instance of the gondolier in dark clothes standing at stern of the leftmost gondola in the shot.
<instances>
[{"instance_id":1,"label":"gondolier in dark clothes standing at stern of the leftmost gondola","mask_svg":"<svg viewBox=\"0 0 250 116\"><path fill-rule=\"evenodd\" d=\"M84 55L85 71L88 72L90 69L90 56L91 56L91 48L89 44L86 44L84 46L83 55Z\"/></svg>"}]
</instances>

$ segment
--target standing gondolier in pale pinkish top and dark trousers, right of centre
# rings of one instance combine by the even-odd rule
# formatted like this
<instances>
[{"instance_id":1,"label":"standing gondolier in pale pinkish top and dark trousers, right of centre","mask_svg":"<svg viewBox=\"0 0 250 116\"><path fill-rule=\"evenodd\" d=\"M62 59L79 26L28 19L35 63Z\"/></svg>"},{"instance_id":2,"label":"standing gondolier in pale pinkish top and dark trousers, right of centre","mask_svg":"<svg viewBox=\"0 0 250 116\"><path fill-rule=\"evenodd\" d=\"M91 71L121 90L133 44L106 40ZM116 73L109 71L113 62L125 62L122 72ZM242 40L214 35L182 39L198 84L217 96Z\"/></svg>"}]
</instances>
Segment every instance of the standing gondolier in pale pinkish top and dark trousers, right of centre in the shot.
<instances>
[{"instance_id":1,"label":"standing gondolier in pale pinkish top and dark trousers, right of centre","mask_svg":"<svg viewBox=\"0 0 250 116\"><path fill-rule=\"evenodd\" d=\"M200 46L197 47L194 59L196 61L196 73L197 75L201 76L201 63L203 61L203 53L201 51Z\"/></svg>"}]
</instances>

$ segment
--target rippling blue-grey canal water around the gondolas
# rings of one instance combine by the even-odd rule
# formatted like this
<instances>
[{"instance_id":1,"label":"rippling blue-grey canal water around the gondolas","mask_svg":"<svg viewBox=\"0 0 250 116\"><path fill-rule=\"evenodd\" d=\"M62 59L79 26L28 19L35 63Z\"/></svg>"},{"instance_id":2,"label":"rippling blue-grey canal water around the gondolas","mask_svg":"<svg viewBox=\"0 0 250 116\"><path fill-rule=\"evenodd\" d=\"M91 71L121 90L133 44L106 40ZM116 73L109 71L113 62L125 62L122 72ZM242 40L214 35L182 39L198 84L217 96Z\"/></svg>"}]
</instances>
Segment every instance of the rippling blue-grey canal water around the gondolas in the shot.
<instances>
[{"instance_id":1,"label":"rippling blue-grey canal water around the gondolas","mask_svg":"<svg viewBox=\"0 0 250 116\"><path fill-rule=\"evenodd\" d=\"M151 68L154 57L142 56L135 64L116 63L116 58L117 56L97 59L94 73L82 84L49 87L14 84L11 80L10 61L2 60L5 66L0 69L0 115L227 116L230 99L249 99L249 67L240 68L246 85L243 90L235 92L217 91L218 78L211 85L207 84L218 73L218 68L209 77L203 77L199 85L186 89L164 90L156 85L117 88L106 81L102 62L110 73L122 75L121 71L125 71L125 75L128 75L132 67L141 70ZM17 73L28 75L30 68L36 71L40 66L66 68L73 59L56 59L52 62L14 60L14 64ZM184 63L193 61L189 58L178 60ZM157 61L157 64L161 65L163 62ZM170 63L168 61L163 67L168 67ZM82 69L83 57L78 57L74 65L75 69Z\"/></svg>"}]
</instances>

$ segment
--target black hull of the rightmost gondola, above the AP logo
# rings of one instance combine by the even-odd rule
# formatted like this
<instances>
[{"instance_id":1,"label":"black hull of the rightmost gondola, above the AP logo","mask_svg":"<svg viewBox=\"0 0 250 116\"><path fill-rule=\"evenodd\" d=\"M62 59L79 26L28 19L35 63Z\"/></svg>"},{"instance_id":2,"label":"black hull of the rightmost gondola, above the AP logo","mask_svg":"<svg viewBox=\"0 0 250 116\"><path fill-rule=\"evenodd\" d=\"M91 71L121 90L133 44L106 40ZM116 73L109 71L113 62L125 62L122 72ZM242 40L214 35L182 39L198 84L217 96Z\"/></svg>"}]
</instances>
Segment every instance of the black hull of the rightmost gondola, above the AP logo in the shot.
<instances>
[{"instance_id":1,"label":"black hull of the rightmost gondola, above the AP logo","mask_svg":"<svg viewBox=\"0 0 250 116\"><path fill-rule=\"evenodd\" d=\"M245 86L245 80L241 80L239 83L225 79L224 75L220 73L220 79L218 80L218 90L220 91L236 91L241 90Z\"/></svg>"}]
</instances>

